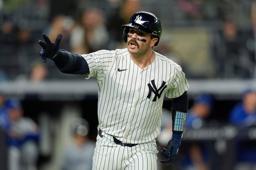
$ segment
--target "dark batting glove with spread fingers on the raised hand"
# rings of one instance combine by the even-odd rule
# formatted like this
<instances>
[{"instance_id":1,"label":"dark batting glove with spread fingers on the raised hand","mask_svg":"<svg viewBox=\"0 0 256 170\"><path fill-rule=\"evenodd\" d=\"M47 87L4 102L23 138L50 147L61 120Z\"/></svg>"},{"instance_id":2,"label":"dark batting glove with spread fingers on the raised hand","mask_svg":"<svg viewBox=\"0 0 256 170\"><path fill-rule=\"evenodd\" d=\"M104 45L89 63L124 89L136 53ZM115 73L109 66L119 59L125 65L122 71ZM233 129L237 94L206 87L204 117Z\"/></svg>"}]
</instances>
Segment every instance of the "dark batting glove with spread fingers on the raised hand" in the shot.
<instances>
[{"instance_id":1,"label":"dark batting glove with spread fingers on the raised hand","mask_svg":"<svg viewBox=\"0 0 256 170\"><path fill-rule=\"evenodd\" d=\"M51 42L49 37L47 37L47 35L45 34L43 34L43 38L45 42L39 40L38 44L40 44L40 46L43 47L40 51L40 55L42 56L44 63L46 63L46 58L52 59L53 57L59 54L60 40L62 39L62 35L59 34L55 42Z\"/></svg>"}]
</instances>

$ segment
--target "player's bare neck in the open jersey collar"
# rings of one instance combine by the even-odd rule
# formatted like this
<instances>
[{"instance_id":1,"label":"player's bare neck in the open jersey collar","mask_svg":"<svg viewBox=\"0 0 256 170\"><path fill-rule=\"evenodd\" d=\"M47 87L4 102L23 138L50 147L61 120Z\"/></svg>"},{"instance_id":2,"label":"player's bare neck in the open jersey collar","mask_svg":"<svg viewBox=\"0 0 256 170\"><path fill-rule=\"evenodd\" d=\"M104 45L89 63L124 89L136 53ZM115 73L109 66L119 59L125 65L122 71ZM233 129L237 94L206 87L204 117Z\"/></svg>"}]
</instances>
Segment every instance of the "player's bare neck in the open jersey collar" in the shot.
<instances>
[{"instance_id":1,"label":"player's bare neck in the open jersey collar","mask_svg":"<svg viewBox=\"0 0 256 170\"><path fill-rule=\"evenodd\" d=\"M144 69L145 67L148 67L150 64L152 64L155 60L155 52L153 50L148 50L143 55L135 55L131 54L130 56L132 58L132 61L140 67L140 69Z\"/></svg>"}]
</instances>

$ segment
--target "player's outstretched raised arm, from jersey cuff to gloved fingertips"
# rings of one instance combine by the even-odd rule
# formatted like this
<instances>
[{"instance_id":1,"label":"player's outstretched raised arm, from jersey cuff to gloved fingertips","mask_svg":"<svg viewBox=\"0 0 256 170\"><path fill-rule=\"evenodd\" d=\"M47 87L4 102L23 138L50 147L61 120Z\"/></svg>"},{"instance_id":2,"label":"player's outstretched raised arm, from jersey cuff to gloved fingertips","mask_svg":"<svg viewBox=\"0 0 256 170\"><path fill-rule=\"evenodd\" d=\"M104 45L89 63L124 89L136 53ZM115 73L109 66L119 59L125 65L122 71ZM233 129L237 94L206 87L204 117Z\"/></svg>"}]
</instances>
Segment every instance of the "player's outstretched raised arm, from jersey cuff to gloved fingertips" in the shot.
<instances>
[{"instance_id":1,"label":"player's outstretched raised arm, from jersey cuff to gloved fingertips","mask_svg":"<svg viewBox=\"0 0 256 170\"><path fill-rule=\"evenodd\" d=\"M52 59L63 73L81 75L89 73L88 63L84 57L65 50L59 50L61 34L57 36L55 42L51 42L45 34L43 34L43 38L45 42L39 40L38 43L42 47L40 55L44 62L46 62L46 58Z\"/></svg>"}]
</instances>

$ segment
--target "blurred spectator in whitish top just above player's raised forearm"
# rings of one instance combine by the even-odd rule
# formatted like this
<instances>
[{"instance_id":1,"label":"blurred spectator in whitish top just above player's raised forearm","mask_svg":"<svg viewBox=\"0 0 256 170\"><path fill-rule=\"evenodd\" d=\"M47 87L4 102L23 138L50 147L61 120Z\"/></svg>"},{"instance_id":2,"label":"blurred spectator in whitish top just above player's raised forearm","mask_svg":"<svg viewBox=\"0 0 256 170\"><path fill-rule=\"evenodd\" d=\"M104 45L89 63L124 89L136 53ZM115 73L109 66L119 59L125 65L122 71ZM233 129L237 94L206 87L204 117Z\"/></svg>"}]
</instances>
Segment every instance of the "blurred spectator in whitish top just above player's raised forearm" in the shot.
<instances>
[{"instance_id":1,"label":"blurred spectator in whitish top just above player's raised forearm","mask_svg":"<svg viewBox=\"0 0 256 170\"><path fill-rule=\"evenodd\" d=\"M109 34L102 11L96 8L83 11L71 33L71 51L75 54L88 54L106 49L108 41Z\"/></svg>"}]
</instances>

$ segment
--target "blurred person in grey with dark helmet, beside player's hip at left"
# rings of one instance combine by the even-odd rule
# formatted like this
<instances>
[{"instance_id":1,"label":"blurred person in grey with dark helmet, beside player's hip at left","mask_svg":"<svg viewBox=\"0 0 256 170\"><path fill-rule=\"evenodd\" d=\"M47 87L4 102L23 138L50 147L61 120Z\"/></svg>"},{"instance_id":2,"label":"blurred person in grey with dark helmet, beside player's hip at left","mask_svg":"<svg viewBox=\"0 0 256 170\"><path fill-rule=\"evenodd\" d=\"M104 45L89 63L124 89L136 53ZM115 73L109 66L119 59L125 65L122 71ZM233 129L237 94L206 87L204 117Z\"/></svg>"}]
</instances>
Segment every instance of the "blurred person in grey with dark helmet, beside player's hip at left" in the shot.
<instances>
[{"instance_id":1,"label":"blurred person in grey with dark helmet, beside player's hip at left","mask_svg":"<svg viewBox=\"0 0 256 170\"><path fill-rule=\"evenodd\" d=\"M74 143L68 147L61 159L61 170L90 170L95 142L88 139L89 123L83 118L71 122Z\"/></svg>"}]
</instances>

